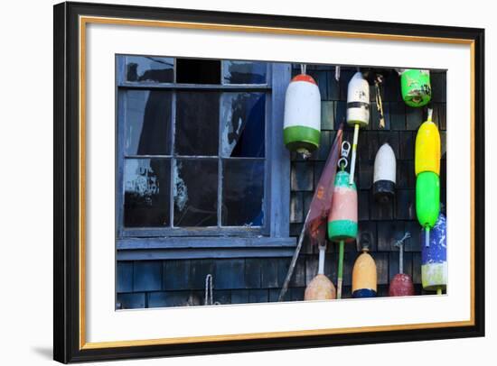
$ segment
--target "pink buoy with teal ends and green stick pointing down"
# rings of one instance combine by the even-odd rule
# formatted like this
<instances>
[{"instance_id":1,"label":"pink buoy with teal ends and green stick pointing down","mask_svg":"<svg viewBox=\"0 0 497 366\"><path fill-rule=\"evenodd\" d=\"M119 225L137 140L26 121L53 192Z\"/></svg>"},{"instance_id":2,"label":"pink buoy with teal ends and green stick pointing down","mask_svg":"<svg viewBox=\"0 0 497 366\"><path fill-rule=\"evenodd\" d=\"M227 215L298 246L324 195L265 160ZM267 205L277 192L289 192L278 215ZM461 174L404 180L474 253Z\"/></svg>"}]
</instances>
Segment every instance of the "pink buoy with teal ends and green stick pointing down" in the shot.
<instances>
[{"instance_id":1,"label":"pink buoy with teal ends and green stick pointing down","mask_svg":"<svg viewBox=\"0 0 497 366\"><path fill-rule=\"evenodd\" d=\"M349 173L338 171L334 180L332 209L328 215L328 238L339 242L337 298L342 298L343 245L357 236L357 188L349 185Z\"/></svg>"}]
</instances>

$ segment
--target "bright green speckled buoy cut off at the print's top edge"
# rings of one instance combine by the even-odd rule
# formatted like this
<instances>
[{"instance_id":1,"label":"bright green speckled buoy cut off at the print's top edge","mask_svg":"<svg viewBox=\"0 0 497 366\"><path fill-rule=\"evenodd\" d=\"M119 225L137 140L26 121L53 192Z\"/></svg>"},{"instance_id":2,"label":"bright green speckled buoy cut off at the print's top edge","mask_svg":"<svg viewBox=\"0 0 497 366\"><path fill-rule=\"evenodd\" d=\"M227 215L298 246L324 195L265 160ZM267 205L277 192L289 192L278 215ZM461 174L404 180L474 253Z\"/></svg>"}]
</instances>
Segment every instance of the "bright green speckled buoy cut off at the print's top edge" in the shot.
<instances>
[{"instance_id":1,"label":"bright green speckled buoy cut off at the print's top edge","mask_svg":"<svg viewBox=\"0 0 497 366\"><path fill-rule=\"evenodd\" d=\"M409 106L427 105L431 100L429 70L404 69L400 72L402 99Z\"/></svg>"}]
</instances>

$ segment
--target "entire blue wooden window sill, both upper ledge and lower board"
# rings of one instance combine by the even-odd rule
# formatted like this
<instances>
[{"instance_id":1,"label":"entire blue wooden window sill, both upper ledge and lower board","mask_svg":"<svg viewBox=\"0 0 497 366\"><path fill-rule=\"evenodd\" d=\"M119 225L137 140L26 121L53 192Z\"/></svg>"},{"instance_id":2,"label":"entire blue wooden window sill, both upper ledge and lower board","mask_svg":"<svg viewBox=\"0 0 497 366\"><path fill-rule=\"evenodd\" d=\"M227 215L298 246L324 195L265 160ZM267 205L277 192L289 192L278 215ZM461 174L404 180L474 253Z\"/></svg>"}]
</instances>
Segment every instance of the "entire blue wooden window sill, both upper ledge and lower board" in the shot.
<instances>
[{"instance_id":1,"label":"entire blue wooden window sill, both upper ledge and lower board","mask_svg":"<svg viewBox=\"0 0 497 366\"><path fill-rule=\"evenodd\" d=\"M117 261L291 257L294 237L176 237L118 239Z\"/></svg>"}]
</instances>

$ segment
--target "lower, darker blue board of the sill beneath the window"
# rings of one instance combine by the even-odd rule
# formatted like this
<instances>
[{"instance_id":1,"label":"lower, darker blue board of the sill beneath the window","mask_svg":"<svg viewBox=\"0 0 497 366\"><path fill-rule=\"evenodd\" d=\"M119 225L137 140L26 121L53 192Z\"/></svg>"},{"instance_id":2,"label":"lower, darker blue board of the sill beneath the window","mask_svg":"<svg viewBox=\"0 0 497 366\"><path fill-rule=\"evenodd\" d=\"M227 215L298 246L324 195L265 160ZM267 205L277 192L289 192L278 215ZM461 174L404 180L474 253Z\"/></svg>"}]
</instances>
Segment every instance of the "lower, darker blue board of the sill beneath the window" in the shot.
<instances>
[{"instance_id":1,"label":"lower, darker blue board of the sill beneath the window","mask_svg":"<svg viewBox=\"0 0 497 366\"><path fill-rule=\"evenodd\" d=\"M222 248L222 249L144 249L117 251L117 261L164 261L207 258L282 258L291 257L294 248Z\"/></svg>"}]
</instances>

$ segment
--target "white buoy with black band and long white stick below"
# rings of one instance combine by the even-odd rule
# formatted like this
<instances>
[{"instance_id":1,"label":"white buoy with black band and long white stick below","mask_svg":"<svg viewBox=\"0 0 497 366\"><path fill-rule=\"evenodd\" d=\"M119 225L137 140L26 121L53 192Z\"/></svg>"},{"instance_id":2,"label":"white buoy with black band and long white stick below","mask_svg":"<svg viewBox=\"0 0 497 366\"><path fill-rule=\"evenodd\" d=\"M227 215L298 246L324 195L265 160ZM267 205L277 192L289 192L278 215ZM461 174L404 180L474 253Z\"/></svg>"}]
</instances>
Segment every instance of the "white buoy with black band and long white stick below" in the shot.
<instances>
[{"instance_id":1,"label":"white buoy with black band and long white stick below","mask_svg":"<svg viewBox=\"0 0 497 366\"><path fill-rule=\"evenodd\" d=\"M347 124L353 126L352 160L349 184L352 185L355 173L355 160L357 155L357 142L359 141L359 128L370 123L370 85L362 77L360 71L356 72L349 81L347 88Z\"/></svg>"}]
</instances>

